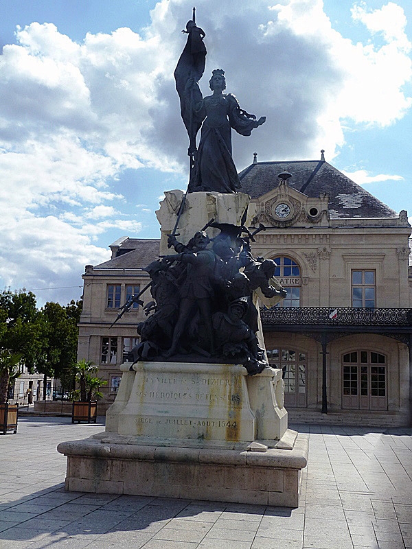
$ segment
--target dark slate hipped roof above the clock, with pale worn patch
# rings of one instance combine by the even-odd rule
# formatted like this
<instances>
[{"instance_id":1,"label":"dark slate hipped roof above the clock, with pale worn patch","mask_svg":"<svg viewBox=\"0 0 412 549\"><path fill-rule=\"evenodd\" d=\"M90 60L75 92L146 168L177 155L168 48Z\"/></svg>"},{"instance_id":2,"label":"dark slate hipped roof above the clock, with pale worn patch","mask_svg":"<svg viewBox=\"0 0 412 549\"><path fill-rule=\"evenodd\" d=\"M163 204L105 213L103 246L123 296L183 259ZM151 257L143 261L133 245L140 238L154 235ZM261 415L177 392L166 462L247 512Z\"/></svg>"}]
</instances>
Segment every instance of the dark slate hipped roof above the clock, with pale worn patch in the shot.
<instances>
[{"instance_id":1,"label":"dark slate hipped roof above the clock, with pale worn patch","mask_svg":"<svg viewBox=\"0 0 412 549\"><path fill-rule=\"evenodd\" d=\"M279 185L281 172L292 174L288 185L307 196L329 193L332 219L398 217L396 211L322 160L253 163L239 174L240 191L258 198Z\"/></svg>"}]
</instances>

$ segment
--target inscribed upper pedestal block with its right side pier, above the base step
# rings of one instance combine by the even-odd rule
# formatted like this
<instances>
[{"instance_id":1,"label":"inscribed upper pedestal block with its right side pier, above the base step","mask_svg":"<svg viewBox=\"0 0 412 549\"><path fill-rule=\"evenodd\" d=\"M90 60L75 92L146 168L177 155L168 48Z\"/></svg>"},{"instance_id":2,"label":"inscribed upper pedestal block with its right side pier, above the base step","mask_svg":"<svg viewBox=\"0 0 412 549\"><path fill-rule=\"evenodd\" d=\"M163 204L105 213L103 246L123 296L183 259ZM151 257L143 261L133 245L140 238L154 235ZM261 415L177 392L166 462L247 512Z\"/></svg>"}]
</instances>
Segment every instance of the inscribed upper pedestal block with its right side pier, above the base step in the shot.
<instances>
[{"instance_id":1,"label":"inscribed upper pedestal block with its right side pier, above the base step","mask_svg":"<svg viewBox=\"0 0 412 549\"><path fill-rule=\"evenodd\" d=\"M138 362L121 368L122 383L106 413L108 433L244 448L256 439L273 446L288 428L280 370L251 377L234 364Z\"/></svg>"}]
</instances>

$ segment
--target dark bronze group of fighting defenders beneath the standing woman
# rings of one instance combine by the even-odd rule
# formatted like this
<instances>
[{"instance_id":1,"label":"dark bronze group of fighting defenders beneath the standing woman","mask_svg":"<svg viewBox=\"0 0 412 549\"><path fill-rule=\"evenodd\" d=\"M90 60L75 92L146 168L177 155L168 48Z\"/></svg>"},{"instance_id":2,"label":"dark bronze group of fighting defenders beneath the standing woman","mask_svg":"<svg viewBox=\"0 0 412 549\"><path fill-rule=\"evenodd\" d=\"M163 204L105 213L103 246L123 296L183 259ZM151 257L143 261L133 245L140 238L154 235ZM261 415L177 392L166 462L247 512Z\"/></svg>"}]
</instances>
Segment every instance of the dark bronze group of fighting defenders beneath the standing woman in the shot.
<instances>
[{"instance_id":1,"label":"dark bronze group of fighting defenders beneath the standing woman","mask_svg":"<svg viewBox=\"0 0 412 549\"><path fill-rule=\"evenodd\" d=\"M270 284L275 261L251 255L253 235L244 226L211 227L219 229L216 237L198 231L187 245L170 235L176 254L146 267L155 301L144 305L149 316L137 327L141 341L132 351L134 362L235 363L249 374L267 366L256 336L253 290L266 297L286 294Z\"/></svg>"}]
</instances>

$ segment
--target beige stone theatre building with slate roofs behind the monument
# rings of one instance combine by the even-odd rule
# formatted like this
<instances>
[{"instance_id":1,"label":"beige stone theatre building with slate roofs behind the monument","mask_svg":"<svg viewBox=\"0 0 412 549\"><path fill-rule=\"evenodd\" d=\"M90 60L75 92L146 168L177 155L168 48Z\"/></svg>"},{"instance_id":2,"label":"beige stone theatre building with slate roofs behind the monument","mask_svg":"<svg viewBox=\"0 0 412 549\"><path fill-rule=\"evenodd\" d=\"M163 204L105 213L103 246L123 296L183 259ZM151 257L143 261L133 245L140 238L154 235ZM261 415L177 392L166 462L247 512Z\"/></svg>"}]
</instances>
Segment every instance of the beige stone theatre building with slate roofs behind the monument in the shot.
<instances>
[{"instance_id":1,"label":"beige stone theatre building with slate roofs behind the monument","mask_svg":"<svg viewBox=\"0 0 412 549\"><path fill-rule=\"evenodd\" d=\"M278 177L280 174L280 177ZM268 360L282 368L291 421L368 425L409 422L412 378L411 226L332 165L257 162L240 173L255 205L253 254L275 259L288 296L262 309ZM87 266L79 358L119 383L118 366L144 320L136 306L113 327L130 294L148 284L143 270L159 240L124 237L112 258ZM142 295L147 303L150 290Z\"/></svg>"}]
</instances>

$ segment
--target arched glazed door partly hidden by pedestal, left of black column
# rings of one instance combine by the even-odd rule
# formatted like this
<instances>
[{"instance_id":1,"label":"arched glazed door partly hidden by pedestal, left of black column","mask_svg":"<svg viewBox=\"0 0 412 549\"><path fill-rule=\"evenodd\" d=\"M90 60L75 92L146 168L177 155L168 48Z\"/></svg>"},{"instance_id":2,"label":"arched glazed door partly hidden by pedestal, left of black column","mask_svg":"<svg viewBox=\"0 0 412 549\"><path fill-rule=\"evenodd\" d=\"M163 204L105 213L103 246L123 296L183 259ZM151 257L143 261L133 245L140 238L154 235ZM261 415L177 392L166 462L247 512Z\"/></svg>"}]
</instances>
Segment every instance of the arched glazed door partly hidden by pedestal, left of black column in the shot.
<instances>
[{"instance_id":1,"label":"arched glazed door partly hidden by pedestal, left of black column","mask_svg":"<svg viewBox=\"0 0 412 549\"><path fill-rule=\"evenodd\" d=\"M306 407L306 353L295 349L267 351L273 368L282 368L285 384L285 406Z\"/></svg>"}]
</instances>

